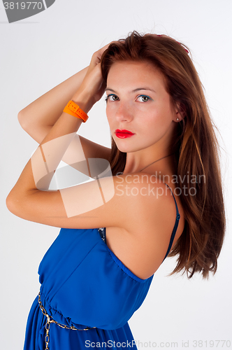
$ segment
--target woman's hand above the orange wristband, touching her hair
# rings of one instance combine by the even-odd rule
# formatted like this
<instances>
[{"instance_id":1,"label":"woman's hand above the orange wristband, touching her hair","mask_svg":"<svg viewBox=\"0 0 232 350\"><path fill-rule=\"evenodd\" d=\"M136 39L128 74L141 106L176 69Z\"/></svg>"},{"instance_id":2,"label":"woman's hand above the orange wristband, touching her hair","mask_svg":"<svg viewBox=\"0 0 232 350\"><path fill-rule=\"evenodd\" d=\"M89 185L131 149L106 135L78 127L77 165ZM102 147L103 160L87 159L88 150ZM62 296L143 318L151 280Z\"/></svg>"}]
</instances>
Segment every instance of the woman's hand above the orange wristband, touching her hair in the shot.
<instances>
[{"instance_id":1,"label":"woman's hand above the orange wristband, touching her hair","mask_svg":"<svg viewBox=\"0 0 232 350\"><path fill-rule=\"evenodd\" d=\"M88 113L88 111L92 109L92 106L94 106L94 104L101 99L103 93L105 92L106 83L103 82L100 62L103 52L109 45L110 43L105 45L100 50L94 52L85 78L83 79L78 90L73 95L72 100L82 105L83 108L82 106L80 107L85 111L85 113Z\"/></svg>"}]
</instances>

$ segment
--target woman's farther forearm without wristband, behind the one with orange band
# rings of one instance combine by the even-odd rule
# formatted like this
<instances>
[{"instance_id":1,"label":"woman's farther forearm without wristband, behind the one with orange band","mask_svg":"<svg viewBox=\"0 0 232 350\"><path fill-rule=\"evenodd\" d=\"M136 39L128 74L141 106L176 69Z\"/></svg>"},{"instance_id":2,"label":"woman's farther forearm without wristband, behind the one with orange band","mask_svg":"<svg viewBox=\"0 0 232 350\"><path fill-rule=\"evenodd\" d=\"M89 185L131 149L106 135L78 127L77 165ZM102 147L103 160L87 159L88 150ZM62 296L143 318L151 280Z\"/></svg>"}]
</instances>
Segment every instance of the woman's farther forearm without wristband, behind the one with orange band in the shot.
<instances>
[{"instance_id":1,"label":"woman's farther forearm without wristband, behind the one with orange band","mask_svg":"<svg viewBox=\"0 0 232 350\"><path fill-rule=\"evenodd\" d=\"M80 87L88 67L46 92L18 113L22 128L39 144L55 125L64 106Z\"/></svg>"}]
</instances>

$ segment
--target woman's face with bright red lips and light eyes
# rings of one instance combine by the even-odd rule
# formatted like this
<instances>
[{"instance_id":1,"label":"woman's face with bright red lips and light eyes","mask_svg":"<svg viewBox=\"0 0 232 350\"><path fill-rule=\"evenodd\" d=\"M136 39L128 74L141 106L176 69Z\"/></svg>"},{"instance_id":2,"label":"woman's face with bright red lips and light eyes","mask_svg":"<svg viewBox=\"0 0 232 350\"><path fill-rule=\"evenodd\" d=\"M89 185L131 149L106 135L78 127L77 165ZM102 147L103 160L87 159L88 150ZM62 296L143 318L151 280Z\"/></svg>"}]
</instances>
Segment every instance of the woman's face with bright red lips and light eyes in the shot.
<instances>
[{"instance_id":1,"label":"woman's face with bright red lips and light eyes","mask_svg":"<svg viewBox=\"0 0 232 350\"><path fill-rule=\"evenodd\" d=\"M113 139L122 152L171 146L177 118L164 76L147 62L116 62L108 73L106 114ZM128 130L131 137L116 132ZM128 136L128 134L127 134Z\"/></svg>"}]
</instances>

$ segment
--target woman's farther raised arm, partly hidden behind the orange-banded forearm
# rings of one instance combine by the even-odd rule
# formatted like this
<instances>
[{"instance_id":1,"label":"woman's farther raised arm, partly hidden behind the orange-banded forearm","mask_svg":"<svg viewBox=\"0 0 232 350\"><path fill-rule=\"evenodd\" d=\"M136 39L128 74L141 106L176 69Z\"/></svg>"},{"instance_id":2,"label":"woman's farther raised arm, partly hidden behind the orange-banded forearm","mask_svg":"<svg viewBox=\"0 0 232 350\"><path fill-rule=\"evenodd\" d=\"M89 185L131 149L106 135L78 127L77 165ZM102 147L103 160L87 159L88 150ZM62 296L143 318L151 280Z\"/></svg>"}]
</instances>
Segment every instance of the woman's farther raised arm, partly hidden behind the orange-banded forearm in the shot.
<instances>
[{"instance_id":1,"label":"woman's farther raised arm, partly hidden behind the orange-banded forearm","mask_svg":"<svg viewBox=\"0 0 232 350\"><path fill-rule=\"evenodd\" d=\"M64 109L64 106L71 99L73 94L80 87L88 70L88 66L78 73L75 73L70 78L64 80L52 90L46 92L41 97L38 97L29 106L25 107L18 113L18 120L22 128L29 134L38 144L41 144L43 139L48 135L52 126L55 125L59 116ZM81 150L80 148L81 142ZM85 137L75 137L68 146L62 160L71 165L80 172L83 172L82 167L78 162L72 164L71 159L75 155L84 152L85 158L104 158L109 160L110 148L96 144L93 141L85 139ZM82 158L81 158L82 160ZM86 174L89 175L89 174Z\"/></svg>"}]
</instances>

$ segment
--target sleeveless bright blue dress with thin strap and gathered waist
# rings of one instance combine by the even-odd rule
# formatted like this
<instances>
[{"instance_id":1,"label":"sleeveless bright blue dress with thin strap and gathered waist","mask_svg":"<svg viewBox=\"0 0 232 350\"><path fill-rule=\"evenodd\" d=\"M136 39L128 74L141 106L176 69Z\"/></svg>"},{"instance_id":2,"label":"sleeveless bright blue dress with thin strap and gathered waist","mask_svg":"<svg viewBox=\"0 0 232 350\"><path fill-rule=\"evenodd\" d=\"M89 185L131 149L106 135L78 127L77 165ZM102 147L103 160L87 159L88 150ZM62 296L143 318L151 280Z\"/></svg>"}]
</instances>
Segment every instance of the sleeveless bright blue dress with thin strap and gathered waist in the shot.
<instances>
[{"instance_id":1,"label":"sleeveless bright blue dress with thin strap and gathered waist","mask_svg":"<svg viewBox=\"0 0 232 350\"><path fill-rule=\"evenodd\" d=\"M180 219L176 201L175 207L177 216L166 256ZM127 321L145 300L153 276L138 278L110 251L106 228L61 228L38 274L41 305L46 313L61 325L78 330L46 324L48 318L37 296L29 312L24 350L45 350L47 345L50 350L86 350L95 346L136 349ZM49 339L45 339L46 328L50 328Z\"/></svg>"}]
</instances>

